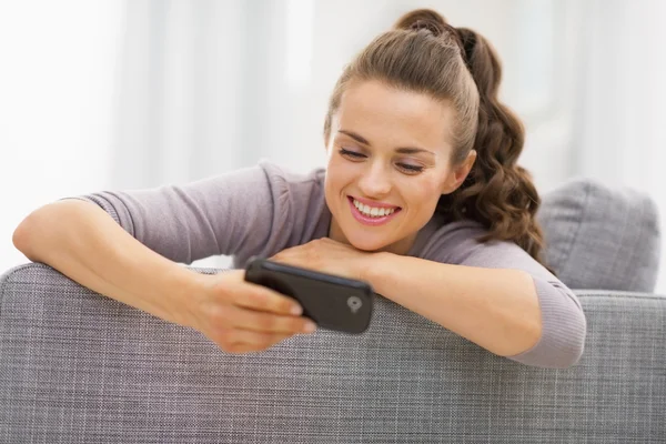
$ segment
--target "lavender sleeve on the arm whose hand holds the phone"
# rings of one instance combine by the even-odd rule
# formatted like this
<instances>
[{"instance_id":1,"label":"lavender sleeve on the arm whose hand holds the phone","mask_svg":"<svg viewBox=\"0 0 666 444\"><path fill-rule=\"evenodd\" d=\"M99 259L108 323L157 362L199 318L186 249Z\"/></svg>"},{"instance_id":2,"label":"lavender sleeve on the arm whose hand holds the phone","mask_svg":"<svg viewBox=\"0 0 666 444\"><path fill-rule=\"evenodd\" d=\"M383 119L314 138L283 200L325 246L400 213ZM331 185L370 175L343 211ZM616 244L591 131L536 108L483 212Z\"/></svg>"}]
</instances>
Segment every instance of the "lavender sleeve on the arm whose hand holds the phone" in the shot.
<instances>
[{"instance_id":1,"label":"lavender sleeve on the arm whose hand holds the phone","mask_svg":"<svg viewBox=\"0 0 666 444\"><path fill-rule=\"evenodd\" d=\"M309 184L316 183L313 174L302 178L260 161L182 185L65 199L98 204L139 242L175 262L190 264L220 254L248 259L289 244L293 201L309 200Z\"/></svg>"}]
</instances>

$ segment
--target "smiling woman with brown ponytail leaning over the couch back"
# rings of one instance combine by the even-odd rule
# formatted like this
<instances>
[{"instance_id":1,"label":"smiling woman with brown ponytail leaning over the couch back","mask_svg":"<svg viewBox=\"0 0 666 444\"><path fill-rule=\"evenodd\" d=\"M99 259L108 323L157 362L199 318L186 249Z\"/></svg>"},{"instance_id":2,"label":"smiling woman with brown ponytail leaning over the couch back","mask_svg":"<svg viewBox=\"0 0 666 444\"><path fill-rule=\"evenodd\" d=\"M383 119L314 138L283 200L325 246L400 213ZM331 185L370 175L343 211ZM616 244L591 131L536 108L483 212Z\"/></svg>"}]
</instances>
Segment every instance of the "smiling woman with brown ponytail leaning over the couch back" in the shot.
<instances>
[{"instance_id":1,"label":"smiling woman with brown ponytail leaning over the couch back","mask_svg":"<svg viewBox=\"0 0 666 444\"><path fill-rule=\"evenodd\" d=\"M416 10L340 78L327 165L259 165L183 186L100 192L30 214L14 245L79 283L192 326L224 351L314 331L297 303L175 262L252 255L369 281L383 296L492 353L566 367L586 321L541 260L539 198L516 165L519 121L497 100L487 41Z\"/></svg>"}]
</instances>

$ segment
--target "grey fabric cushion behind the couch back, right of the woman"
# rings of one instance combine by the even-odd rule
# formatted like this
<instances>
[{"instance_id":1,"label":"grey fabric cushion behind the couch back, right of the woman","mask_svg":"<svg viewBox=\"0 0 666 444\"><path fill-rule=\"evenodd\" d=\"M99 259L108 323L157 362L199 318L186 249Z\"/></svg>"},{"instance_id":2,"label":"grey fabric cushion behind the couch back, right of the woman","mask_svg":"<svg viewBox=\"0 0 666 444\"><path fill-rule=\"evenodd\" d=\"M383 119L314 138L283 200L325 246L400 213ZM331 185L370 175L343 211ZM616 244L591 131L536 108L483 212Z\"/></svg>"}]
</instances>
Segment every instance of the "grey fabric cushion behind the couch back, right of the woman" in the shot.
<instances>
[{"instance_id":1,"label":"grey fabric cushion behind the couch back, right of the woman","mask_svg":"<svg viewBox=\"0 0 666 444\"><path fill-rule=\"evenodd\" d=\"M644 192L575 179L545 193L545 260L572 289L654 291L659 218Z\"/></svg>"}]
</instances>

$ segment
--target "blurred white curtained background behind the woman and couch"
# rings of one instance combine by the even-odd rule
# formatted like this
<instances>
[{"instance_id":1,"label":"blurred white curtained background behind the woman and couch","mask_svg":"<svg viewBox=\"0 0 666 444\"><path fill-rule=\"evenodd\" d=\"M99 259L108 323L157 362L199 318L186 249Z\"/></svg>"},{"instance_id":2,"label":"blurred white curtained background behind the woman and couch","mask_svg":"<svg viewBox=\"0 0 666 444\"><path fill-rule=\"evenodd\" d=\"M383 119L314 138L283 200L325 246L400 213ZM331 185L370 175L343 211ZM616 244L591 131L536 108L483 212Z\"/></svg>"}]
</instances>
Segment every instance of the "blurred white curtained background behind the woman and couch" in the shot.
<instances>
[{"instance_id":1,"label":"blurred white curtained background behind the woman and couch","mask_svg":"<svg viewBox=\"0 0 666 444\"><path fill-rule=\"evenodd\" d=\"M589 176L665 212L660 0L0 0L0 272L27 262L20 221L63 196L323 165L343 65L420 7L496 48L542 193Z\"/></svg>"}]
</instances>

